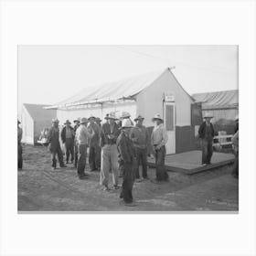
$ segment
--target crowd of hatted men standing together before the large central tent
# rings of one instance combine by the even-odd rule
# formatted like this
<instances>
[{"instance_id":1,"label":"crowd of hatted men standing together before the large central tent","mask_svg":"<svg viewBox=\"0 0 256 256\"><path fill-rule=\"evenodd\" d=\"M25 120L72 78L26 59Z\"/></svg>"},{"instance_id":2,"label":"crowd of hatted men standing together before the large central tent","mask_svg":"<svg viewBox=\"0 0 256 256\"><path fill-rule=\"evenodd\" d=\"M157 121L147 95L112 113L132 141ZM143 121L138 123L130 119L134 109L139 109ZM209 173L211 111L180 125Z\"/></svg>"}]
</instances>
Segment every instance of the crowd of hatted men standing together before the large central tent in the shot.
<instances>
[{"instance_id":1,"label":"crowd of hatted men standing together before the large central tent","mask_svg":"<svg viewBox=\"0 0 256 256\"><path fill-rule=\"evenodd\" d=\"M91 171L101 169L100 184L105 190L110 190L109 176L112 172L113 189L119 189L119 176L123 177L123 186L120 197L127 205L133 205L133 182L141 182L148 179L147 155L150 143L154 147L156 178L155 181L168 179L165 171L165 144L167 133L163 125L163 119L156 114L152 119L155 123L151 138L144 126L144 117L137 116L135 125L128 112L123 112L120 119L114 112L105 116L105 122L94 116L74 120L71 127L69 120L61 130L60 138L65 145L66 165L59 143L59 120L52 121L52 127L48 133L49 150L51 152L52 167L56 169L57 160L59 166L66 167L70 163L77 168L80 179L87 179L85 173L87 149L89 147L89 165ZM142 177L139 172L142 165Z\"/></svg>"}]
</instances>

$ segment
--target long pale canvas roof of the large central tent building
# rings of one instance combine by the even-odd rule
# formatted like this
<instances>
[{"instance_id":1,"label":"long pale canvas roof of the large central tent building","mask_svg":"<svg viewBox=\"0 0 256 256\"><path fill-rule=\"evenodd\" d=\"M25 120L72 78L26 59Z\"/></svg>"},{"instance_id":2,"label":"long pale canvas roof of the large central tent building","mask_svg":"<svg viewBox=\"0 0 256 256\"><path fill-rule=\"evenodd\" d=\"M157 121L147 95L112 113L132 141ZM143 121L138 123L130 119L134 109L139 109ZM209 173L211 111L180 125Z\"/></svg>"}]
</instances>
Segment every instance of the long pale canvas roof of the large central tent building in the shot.
<instances>
[{"instance_id":1,"label":"long pale canvas roof of the large central tent building","mask_svg":"<svg viewBox=\"0 0 256 256\"><path fill-rule=\"evenodd\" d=\"M133 78L108 82L99 86L86 88L75 94L74 96L70 97L69 99L66 99L65 101L60 101L59 103L51 107L61 108L90 102L93 103L116 101L122 99L133 99L136 94L150 86L166 71L170 71L170 69L161 69L143 75L135 76Z\"/></svg>"}]
</instances>

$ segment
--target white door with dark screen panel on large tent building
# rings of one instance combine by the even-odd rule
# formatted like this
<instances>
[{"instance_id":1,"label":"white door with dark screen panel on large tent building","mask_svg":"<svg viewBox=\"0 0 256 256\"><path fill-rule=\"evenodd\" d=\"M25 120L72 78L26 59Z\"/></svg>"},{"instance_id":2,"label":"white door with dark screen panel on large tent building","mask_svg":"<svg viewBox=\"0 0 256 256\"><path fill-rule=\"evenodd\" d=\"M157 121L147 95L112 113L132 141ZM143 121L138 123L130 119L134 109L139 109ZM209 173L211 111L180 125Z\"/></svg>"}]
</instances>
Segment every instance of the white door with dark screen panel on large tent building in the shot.
<instances>
[{"instance_id":1,"label":"white door with dark screen panel on large tent building","mask_svg":"<svg viewBox=\"0 0 256 256\"><path fill-rule=\"evenodd\" d=\"M175 102L164 103L164 125L168 135L166 154L176 153L176 110Z\"/></svg>"}]
</instances>

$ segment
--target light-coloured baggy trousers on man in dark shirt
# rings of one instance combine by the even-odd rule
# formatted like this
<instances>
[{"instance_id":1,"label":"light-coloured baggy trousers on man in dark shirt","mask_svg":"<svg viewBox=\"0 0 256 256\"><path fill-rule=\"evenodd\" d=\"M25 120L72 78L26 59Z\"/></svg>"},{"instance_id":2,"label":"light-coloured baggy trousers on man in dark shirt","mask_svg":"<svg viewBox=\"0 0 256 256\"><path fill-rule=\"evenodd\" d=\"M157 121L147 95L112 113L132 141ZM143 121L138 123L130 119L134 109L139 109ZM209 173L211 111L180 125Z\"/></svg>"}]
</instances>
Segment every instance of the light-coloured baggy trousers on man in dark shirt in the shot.
<instances>
[{"instance_id":1,"label":"light-coloured baggy trousers on man in dark shirt","mask_svg":"<svg viewBox=\"0 0 256 256\"><path fill-rule=\"evenodd\" d=\"M101 148L101 178L100 184L108 187L109 174L112 170L112 182L118 185L118 151L116 144L105 144Z\"/></svg>"}]
</instances>

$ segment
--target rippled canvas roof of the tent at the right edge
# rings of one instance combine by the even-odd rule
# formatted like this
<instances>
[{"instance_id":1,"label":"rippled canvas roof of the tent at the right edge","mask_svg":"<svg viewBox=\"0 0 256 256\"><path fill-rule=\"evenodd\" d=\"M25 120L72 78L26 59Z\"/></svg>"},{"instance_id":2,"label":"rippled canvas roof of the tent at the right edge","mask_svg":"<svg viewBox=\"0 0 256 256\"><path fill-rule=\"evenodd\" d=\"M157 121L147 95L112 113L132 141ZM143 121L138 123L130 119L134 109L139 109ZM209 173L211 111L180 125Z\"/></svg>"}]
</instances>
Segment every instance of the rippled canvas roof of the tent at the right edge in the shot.
<instances>
[{"instance_id":1,"label":"rippled canvas roof of the tent at the right edge","mask_svg":"<svg viewBox=\"0 0 256 256\"><path fill-rule=\"evenodd\" d=\"M202 102L202 109L236 108L239 105L239 90L195 93L192 97Z\"/></svg>"}]
</instances>

